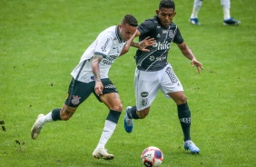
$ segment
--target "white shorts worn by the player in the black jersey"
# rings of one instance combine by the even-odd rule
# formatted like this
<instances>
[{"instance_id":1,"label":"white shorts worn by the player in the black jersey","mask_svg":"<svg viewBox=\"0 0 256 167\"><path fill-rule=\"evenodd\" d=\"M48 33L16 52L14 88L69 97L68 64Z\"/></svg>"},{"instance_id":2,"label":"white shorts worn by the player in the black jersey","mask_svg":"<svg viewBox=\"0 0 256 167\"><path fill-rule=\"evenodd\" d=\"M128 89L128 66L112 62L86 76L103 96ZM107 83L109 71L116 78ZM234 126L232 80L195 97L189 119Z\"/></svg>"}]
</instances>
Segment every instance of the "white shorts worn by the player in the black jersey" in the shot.
<instances>
[{"instance_id":1,"label":"white shorts worn by the player in the black jersey","mask_svg":"<svg viewBox=\"0 0 256 167\"><path fill-rule=\"evenodd\" d=\"M168 97L167 93L183 91L182 83L174 74L171 64L156 72L145 72L136 68L134 92L138 111L151 106L159 89Z\"/></svg>"}]
</instances>

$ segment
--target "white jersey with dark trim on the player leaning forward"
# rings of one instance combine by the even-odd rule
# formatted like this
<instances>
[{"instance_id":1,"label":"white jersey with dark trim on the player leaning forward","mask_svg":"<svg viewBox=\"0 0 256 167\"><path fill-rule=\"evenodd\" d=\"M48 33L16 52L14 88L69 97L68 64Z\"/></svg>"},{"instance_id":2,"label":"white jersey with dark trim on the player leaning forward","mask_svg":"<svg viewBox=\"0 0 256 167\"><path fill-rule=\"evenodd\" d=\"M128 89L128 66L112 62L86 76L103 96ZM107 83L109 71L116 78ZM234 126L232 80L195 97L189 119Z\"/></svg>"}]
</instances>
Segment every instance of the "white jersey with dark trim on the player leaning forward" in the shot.
<instances>
[{"instance_id":1,"label":"white jersey with dark trim on the player leaning forward","mask_svg":"<svg viewBox=\"0 0 256 167\"><path fill-rule=\"evenodd\" d=\"M105 29L98 35L94 43L85 50L79 64L71 73L74 79L83 83L94 81L91 65L94 54L103 55L103 60L99 64L100 75L101 79L108 78L109 69L115 59L121 54L124 44L125 42L121 39L117 25Z\"/></svg>"}]
</instances>

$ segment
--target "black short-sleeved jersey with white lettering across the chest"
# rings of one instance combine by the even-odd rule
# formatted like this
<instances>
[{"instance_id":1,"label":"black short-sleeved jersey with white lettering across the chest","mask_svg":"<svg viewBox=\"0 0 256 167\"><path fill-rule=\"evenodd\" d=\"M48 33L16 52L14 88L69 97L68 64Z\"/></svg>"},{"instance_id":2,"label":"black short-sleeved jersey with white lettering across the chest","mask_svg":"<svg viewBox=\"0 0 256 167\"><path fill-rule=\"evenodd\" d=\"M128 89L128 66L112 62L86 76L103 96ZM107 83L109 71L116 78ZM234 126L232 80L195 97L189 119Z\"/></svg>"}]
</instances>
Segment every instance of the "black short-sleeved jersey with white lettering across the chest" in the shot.
<instances>
[{"instance_id":1,"label":"black short-sleeved jersey with white lettering across the chest","mask_svg":"<svg viewBox=\"0 0 256 167\"><path fill-rule=\"evenodd\" d=\"M145 20L138 26L141 35L139 40L150 36L156 40L156 44L148 46L150 52L137 50L135 60L137 68L143 71L159 71L167 64L168 51L171 43L182 44L182 34L177 25L171 23L168 27L161 25L157 16Z\"/></svg>"}]
</instances>

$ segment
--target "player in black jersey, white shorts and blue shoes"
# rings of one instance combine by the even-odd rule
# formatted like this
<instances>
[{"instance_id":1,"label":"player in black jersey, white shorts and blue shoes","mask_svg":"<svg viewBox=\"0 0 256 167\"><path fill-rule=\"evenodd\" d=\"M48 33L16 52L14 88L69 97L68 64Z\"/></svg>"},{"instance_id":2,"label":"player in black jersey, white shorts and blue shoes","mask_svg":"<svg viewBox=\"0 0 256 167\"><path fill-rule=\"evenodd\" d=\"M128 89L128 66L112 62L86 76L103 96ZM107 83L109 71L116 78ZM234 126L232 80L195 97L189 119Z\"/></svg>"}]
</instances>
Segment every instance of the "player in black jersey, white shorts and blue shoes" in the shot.
<instances>
[{"instance_id":1,"label":"player in black jersey, white shorts and blue shoes","mask_svg":"<svg viewBox=\"0 0 256 167\"><path fill-rule=\"evenodd\" d=\"M143 37L150 36L156 40L156 43L147 47L150 52L137 50L135 55L137 67L134 76L136 105L126 108L123 125L125 131L131 133L133 131L133 119L143 119L147 116L153 100L158 91L161 90L166 96L172 97L172 100L177 104L178 117L184 136L184 149L198 153L200 149L191 140L191 111L183 92L182 83L174 74L172 65L167 63L171 43L177 44L182 54L191 60L192 66L197 68L197 73L200 73L203 68L184 42L178 26L172 23L175 14L174 2L162 0L158 10L156 10L156 15L138 26L137 35L140 36L140 41ZM136 44L131 45L136 46Z\"/></svg>"}]
</instances>

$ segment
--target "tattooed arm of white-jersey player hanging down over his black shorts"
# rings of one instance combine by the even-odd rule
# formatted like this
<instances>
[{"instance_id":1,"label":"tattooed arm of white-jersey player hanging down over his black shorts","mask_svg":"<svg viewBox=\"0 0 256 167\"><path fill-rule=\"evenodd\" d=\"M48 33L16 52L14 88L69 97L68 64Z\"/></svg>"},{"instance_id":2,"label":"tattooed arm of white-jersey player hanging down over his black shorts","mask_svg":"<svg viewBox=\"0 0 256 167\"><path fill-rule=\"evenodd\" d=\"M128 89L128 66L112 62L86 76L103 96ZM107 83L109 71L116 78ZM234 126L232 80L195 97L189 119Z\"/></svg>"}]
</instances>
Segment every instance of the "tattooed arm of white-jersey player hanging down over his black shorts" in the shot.
<instances>
[{"instance_id":1,"label":"tattooed arm of white-jersey player hanging down over his black shorts","mask_svg":"<svg viewBox=\"0 0 256 167\"><path fill-rule=\"evenodd\" d=\"M94 54L94 57L91 63L92 70L94 73L94 81L95 81L94 91L98 95L103 94L103 83L101 80L100 67L99 67L99 64L102 60L103 60L102 55Z\"/></svg>"}]
</instances>

